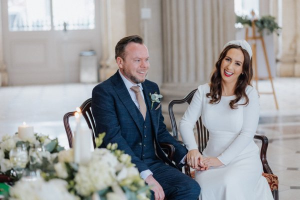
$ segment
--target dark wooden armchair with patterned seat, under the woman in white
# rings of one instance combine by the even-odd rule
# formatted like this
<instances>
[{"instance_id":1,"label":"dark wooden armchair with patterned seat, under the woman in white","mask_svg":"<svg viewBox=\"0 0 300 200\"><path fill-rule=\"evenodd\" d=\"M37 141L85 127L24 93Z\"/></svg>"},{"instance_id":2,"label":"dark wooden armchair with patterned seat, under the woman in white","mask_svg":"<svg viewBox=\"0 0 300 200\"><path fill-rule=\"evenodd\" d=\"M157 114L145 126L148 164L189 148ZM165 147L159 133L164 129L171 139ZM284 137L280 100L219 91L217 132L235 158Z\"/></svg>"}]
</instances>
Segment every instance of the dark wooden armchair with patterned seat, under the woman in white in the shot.
<instances>
[{"instance_id":1,"label":"dark wooden armchair with patterned seat, under the woman in white","mask_svg":"<svg viewBox=\"0 0 300 200\"><path fill-rule=\"evenodd\" d=\"M169 116L170 116L170 121L171 121L171 127L172 127L172 133L175 139L178 140L178 131L177 131L177 125L176 125L176 120L175 116L173 113L173 105L174 104L182 104L182 103L190 103L191 99L196 92L197 89L192 90L189 92L183 99L180 100L172 100L169 102L168 105L168 111L169 111ZM204 150L208 138L209 138L209 132L203 125L201 121L201 117L196 121L196 129L197 129L197 141L198 141L198 150L202 153ZM266 136L261 135L261 134L255 134L254 139L259 139L261 140L261 149L260 149L260 159L262 162L262 167L263 167L263 173L262 175L266 178L270 189L272 191L273 197L275 200L278 200L278 178L276 175L273 174L271 168L269 167L266 159L266 150L267 150L267 145L268 145L268 139ZM185 174L189 175L190 177L194 177L194 171L190 171L190 168L187 164L184 166L184 171Z\"/></svg>"}]
</instances>

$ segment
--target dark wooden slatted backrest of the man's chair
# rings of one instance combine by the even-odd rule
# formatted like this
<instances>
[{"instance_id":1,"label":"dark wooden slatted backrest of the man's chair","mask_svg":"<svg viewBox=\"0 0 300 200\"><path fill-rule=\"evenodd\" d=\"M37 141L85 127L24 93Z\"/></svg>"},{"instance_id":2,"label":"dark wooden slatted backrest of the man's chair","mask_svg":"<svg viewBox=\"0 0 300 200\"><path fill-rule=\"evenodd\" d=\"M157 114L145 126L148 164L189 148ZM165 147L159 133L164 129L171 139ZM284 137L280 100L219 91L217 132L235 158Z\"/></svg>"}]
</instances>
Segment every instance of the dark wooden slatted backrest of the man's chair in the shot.
<instances>
[{"instance_id":1,"label":"dark wooden slatted backrest of the man's chair","mask_svg":"<svg viewBox=\"0 0 300 200\"><path fill-rule=\"evenodd\" d=\"M94 118L91 113L91 98L88 98L87 100L85 100L80 105L80 109L81 109L82 116L84 117L84 119L87 123L88 128L92 130L91 137L92 137L93 146L95 148L96 147L96 143L95 143L96 126L95 126ZM66 136L67 136L67 140L68 140L70 148L72 147L73 134L72 134L72 130L71 130L70 123L69 123L69 117L74 116L74 113L75 113L75 111L67 112L63 116L63 125L65 128L65 132L66 132Z\"/></svg>"}]
</instances>

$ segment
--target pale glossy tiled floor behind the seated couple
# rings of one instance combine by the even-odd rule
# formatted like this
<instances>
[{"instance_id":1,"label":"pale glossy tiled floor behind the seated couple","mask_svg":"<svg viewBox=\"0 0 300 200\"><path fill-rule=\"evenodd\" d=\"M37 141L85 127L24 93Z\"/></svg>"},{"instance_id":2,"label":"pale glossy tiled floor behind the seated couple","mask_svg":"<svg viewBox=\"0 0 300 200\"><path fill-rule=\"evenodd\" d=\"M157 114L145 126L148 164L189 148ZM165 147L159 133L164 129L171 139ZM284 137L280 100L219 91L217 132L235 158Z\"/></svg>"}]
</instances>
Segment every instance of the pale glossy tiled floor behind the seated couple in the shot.
<instances>
[{"instance_id":1,"label":"pale glossy tiled floor behind the seated couple","mask_svg":"<svg viewBox=\"0 0 300 200\"><path fill-rule=\"evenodd\" d=\"M0 87L0 136L13 134L23 121L35 132L58 137L68 146L62 117L91 95L95 84ZM258 130L269 139L267 158L279 178L279 199L300 199L300 78L276 78L273 96L260 94ZM259 91L271 91L268 81L258 82ZM74 125L74 122L72 123Z\"/></svg>"}]
</instances>

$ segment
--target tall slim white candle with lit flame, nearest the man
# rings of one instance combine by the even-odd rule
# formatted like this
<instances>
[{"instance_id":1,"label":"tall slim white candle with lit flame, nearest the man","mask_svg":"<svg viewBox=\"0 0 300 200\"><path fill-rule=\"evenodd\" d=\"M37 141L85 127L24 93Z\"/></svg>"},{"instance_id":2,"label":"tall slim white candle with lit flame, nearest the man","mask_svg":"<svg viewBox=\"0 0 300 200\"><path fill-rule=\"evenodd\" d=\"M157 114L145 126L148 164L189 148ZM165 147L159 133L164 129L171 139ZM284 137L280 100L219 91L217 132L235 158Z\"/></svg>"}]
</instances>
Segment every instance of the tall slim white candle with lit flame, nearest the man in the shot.
<instances>
[{"instance_id":1,"label":"tall slim white candle with lit flame, nearest the man","mask_svg":"<svg viewBox=\"0 0 300 200\"><path fill-rule=\"evenodd\" d=\"M74 149L74 162L80 162L80 118L82 116L81 110L79 107L76 107L75 118L76 118L76 130L74 132L74 142L73 142L73 149Z\"/></svg>"}]
</instances>

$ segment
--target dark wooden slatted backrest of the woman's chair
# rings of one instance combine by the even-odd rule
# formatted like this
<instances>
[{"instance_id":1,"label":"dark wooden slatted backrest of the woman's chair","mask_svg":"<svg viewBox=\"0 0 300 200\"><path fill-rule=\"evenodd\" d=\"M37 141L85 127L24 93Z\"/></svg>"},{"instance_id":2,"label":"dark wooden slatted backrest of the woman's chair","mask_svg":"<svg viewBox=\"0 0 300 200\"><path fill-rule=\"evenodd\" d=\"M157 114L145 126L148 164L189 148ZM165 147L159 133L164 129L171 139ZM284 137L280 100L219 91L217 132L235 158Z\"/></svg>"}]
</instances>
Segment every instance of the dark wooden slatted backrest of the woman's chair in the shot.
<instances>
[{"instance_id":1,"label":"dark wooden slatted backrest of the woman's chair","mask_svg":"<svg viewBox=\"0 0 300 200\"><path fill-rule=\"evenodd\" d=\"M171 100L168 105L168 111L170 115L170 120L171 120L171 127L172 127L172 132L173 132L173 137L178 140L178 131L177 131L177 124L175 120L175 116L173 113L173 105L174 104L182 104L182 103L190 103L191 99L196 92L197 89L192 90L189 92L184 98L180 100ZM204 150L208 137L209 137L209 132L206 129L206 127L203 125L201 121L201 117L196 121L196 128L197 128L197 141L198 141L198 150L202 153Z\"/></svg>"}]
</instances>

